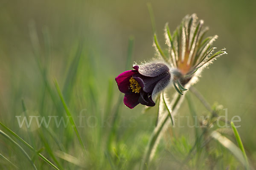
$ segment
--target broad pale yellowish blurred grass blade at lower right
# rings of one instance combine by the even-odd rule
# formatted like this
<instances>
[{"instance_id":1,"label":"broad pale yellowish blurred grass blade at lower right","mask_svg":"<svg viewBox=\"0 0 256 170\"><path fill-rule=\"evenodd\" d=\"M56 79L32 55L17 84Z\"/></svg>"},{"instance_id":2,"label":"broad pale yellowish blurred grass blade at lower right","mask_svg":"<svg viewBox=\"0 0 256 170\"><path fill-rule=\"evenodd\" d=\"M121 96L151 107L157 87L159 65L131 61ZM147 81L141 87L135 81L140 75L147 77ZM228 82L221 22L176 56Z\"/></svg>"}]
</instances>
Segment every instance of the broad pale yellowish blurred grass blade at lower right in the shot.
<instances>
[{"instance_id":1,"label":"broad pale yellowish blurred grass blade at lower right","mask_svg":"<svg viewBox=\"0 0 256 170\"><path fill-rule=\"evenodd\" d=\"M217 131L212 131L210 136L212 136L213 139L217 140L231 153L233 153L233 155L244 165L244 167L247 167L247 162L243 156L243 153L239 147L236 146L236 144L230 141L230 139L227 139L225 136L222 136L221 133L218 133Z\"/></svg>"}]
</instances>

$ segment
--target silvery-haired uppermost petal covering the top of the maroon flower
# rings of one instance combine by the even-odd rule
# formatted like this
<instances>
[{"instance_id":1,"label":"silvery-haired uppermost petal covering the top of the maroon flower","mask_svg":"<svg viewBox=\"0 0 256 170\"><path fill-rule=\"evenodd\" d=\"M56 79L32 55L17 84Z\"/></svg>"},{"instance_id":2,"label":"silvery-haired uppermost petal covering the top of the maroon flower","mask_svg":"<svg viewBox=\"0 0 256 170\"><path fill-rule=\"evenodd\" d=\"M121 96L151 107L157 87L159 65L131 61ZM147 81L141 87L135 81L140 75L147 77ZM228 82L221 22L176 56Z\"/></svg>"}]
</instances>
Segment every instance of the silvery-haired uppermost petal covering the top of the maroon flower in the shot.
<instances>
[{"instance_id":1,"label":"silvery-haired uppermost petal covering the top of the maroon flower","mask_svg":"<svg viewBox=\"0 0 256 170\"><path fill-rule=\"evenodd\" d=\"M169 72L169 67L161 62L149 63L144 65L133 66L140 74L147 77L156 77L160 74Z\"/></svg>"}]
</instances>

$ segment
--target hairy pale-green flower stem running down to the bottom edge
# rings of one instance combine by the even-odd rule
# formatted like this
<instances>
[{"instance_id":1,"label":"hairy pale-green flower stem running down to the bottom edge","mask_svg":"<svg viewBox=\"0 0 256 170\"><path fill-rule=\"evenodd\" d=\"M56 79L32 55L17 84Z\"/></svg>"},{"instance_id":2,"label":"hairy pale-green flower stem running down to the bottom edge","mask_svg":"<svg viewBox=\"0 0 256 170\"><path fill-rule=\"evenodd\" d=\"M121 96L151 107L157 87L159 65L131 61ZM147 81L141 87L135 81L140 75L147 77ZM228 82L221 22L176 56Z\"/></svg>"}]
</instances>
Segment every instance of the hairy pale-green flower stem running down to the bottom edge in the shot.
<instances>
[{"instance_id":1,"label":"hairy pale-green flower stem running down to the bottom edge","mask_svg":"<svg viewBox=\"0 0 256 170\"><path fill-rule=\"evenodd\" d=\"M181 102L183 101L184 95L178 95L176 94L175 97L172 100L172 113L177 112L179 105L181 104ZM143 160L141 162L141 167L142 170L146 169L145 164L149 164L150 159L151 159L151 154L153 153L153 148L155 147L155 144L157 144L157 139L159 138L161 132L164 130L164 126L166 125L166 122L168 122L167 120L170 119L169 118L169 113L166 113L162 120L157 124L157 127L155 127L153 133L151 134L151 137L148 141L148 146L146 147L145 150L145 155L143 156Z\"/></svg>"}]
</instances>

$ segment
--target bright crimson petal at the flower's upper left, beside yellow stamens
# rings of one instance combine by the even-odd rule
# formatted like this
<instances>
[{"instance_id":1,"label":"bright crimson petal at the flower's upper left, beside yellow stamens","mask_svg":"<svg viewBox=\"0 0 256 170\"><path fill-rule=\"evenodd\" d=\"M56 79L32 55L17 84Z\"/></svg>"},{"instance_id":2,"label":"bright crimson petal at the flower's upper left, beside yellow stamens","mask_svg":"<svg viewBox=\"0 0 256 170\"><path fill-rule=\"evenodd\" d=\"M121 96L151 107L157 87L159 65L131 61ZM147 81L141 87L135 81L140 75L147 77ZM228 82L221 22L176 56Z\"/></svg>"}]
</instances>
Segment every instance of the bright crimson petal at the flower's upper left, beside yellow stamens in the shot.
<instances>
[{"instance_id":1,"label":"bright crimson petal at the flower's upper left, beside yellow stamens","mask_svg":"<svg viewBox=\"0 0 256 170\"><path fill-rule=\"evenodd\" d=\"M121 74L119 74L116 77L116 83L118 85L119 91L121 91L122 93L127 93L129 92L129 87L130 87L130 79L132 77L132 75L134 75L135 73L137 73L136 70L128 70L125 71Z\"/></svg>"}]
</instances>

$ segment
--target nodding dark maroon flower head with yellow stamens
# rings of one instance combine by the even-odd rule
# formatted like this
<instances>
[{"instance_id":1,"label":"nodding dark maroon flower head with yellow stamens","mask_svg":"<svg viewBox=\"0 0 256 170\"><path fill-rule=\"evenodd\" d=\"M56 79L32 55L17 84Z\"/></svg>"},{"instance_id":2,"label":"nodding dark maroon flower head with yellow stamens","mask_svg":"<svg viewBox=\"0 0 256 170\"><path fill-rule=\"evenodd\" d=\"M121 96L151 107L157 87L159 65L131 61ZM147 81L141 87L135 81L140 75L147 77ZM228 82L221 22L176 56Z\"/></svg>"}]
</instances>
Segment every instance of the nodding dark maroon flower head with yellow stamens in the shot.
<instances>
[{"instance_id":1,"label":"nodding dark maroon flower head with yellow stamens","mask_svg":"<svg viewBox=\"0 0 256 170\"><path fill-rule=\"evenodd\" d=\"M119 91L125 94L124 104L134 108L139 103L154 106L154 96L171 82L169 67L162 62L134 65L116 77Z\"/></svg>"}]
</instances>

